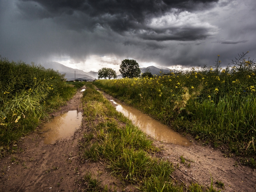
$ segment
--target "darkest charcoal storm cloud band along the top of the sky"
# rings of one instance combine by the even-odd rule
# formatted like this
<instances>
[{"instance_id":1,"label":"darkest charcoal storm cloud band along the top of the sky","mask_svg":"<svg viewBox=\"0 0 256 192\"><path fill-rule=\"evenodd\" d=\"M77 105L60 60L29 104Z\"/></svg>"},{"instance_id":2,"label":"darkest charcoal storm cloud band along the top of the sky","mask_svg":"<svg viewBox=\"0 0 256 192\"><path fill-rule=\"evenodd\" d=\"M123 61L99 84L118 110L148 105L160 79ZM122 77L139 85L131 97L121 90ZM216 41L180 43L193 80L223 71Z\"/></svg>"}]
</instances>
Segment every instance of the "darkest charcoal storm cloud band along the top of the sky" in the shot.
<instances>
[{"instance_id":1,"label":"darkest charcoal storm cloud band along the top of the sky","mask_svg":"<svg viewBox=\"0 0 256 192\"><path fill-rule=\"evenodd\" d=\"M212 28L189 25L157 28L150 25L150 20L165 16L173 9L175 14L185 10L193 12L216 2L218 0L22 0L18 7L27 18L52 18L72 30L106 28L122 36L129 33L146 40L194 41L211 36Z\"/></svg>"}]
</instances>

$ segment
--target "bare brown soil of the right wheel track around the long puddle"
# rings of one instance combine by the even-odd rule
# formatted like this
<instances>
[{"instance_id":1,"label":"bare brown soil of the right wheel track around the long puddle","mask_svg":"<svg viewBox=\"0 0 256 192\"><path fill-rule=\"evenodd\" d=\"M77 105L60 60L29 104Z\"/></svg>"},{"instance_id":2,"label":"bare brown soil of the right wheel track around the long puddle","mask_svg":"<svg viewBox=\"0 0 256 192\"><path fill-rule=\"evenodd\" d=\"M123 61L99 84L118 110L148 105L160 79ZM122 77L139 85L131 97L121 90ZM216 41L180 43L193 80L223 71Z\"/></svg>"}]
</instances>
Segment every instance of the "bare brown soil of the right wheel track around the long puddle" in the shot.
<instances>
[{"instance_id":1,"label":"bare brown soil of the right wheel track around the long puddle","mask_svg":"<svg viewBox=\"0 0 256 192\"><path fill-rule=\"evenodd\" d=\"M104 92L102 93L108 100L121 102ZM116 107L117 102L112 102L112 104ZM125 106L124 103L122 105ZM172 177L175 179L176 185L183 183L189 186L193 182L210 186L212 175L213 184L217 190L256 191L256 170L240 164L238 158L225 156L223 148L221 150L213 148L210 144L203 145L189 134L182 137L190 141L189 146L161 142L152 138L154 145L162 149L156 156L173 163L175 171L172 173ZM181 156L185 159L185 163L181 163ZM224 188L216 186L217 180L224 183Z\"/></svg>"}]
</instances>

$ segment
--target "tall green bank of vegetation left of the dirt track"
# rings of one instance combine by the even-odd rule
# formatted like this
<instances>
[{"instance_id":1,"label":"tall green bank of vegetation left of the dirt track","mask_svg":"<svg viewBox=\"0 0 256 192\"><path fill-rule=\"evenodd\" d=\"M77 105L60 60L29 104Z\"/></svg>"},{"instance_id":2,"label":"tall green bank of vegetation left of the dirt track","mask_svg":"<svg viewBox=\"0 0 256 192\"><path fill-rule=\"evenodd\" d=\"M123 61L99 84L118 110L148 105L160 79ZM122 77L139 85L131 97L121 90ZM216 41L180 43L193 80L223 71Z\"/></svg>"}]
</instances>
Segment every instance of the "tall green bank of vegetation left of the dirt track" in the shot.
<instances>
[{"instance_id":1,"label":"tall green bank of vegetation left of the dirt track","mask_svg":"<svg viewBox=\"0 0 256 192\"><path fill-rule=\"evenodd\" d=\"M41 65L0 58L0 151L73 97L77 85L66 85L64 77Z\"/></svg>"}]
</instances>

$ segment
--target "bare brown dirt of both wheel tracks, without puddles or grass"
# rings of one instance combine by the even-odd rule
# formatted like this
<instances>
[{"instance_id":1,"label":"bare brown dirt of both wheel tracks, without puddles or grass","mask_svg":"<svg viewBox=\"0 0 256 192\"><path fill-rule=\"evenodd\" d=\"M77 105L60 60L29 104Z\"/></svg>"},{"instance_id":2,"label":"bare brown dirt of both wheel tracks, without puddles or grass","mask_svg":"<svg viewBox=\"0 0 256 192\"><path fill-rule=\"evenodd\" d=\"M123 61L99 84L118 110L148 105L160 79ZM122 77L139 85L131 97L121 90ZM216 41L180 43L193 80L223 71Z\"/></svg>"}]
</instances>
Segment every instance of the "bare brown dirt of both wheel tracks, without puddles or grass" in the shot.
<instances>
[{"instance_id":1,"label":"bare brown dirt of both wheel tracks, without puddles or grass","mask_svg":"<svg viewBox=\"0 0 256 192\"><path fill-rule=\"evenodd\" d=\"M113 99L103 94L108 100ZM53 115L70 110L83 112L81 97L82 92L78 91L68 105ZM0 191L82 191L86 189L83 177L89 171L100 178L102 185L108 185L110 191L135 190L111 176L104 162L80 161L79 140L89 126L84 120L73 136L54 144L44 144L39 134L42 126L21 138L17 146L13 146L16 151L0 159ZM255 170L240 165L236 158L225 157L220 149L203 146L188 134L186 137L193 141L189 147L154 141L154 145L162 149L157 156L170 160L176 167L172 175L176 185L197 182L209 186L211 174L214 183L216 180L224 183L224 188L217 188L222 191L256 191Z\"/></svg>"}]
</instances>

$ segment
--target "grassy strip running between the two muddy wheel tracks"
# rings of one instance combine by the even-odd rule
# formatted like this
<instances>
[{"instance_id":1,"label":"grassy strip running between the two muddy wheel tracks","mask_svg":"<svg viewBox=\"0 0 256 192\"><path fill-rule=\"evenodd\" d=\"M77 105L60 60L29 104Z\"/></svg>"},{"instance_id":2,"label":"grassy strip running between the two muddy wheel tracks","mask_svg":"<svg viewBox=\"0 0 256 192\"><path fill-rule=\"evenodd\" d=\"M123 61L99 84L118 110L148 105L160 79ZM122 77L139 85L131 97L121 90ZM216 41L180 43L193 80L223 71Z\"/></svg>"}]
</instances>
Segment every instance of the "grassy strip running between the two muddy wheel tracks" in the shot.
<instances>
[{"instance_id":1,"label":"grassy strip running between the two muddy wheel tracks","mask_svg":"<svg viewBox=\"0 0 256 192\"><path fill-rule=\"evenodd\" d=\"M137 185L140 191L183 191L182 186L174 186L171 180L172 163L154 157L159 149L145 133L117 112L91 83L86 88L83 106L88 129L80 142L81 158L105 161L114 176ZM90 178L85 176L84 180L89 182ZM103 191L103 187L95 188ZM203 191L203 187L193 184L188 191Z\"/></svg>"}]
</instances>

